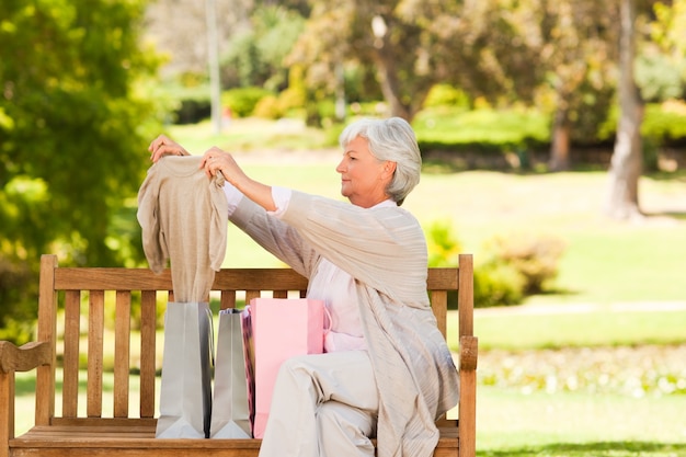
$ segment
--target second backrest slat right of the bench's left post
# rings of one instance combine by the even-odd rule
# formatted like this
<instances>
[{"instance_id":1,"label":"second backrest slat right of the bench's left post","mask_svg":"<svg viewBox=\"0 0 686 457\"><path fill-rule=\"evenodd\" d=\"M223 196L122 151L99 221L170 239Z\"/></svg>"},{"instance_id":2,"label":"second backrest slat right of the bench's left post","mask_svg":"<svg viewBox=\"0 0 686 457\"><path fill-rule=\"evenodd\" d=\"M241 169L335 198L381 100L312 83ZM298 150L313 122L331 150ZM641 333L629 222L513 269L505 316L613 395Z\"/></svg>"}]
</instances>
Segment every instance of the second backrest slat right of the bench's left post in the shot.
<instances>
[{"instance_id":1,"label":"second backrest slat right of the bench's left post","mask_svg":"<svg viewBox=\"0 0 686 457\"><path fill-rule=\"evenodd\" d=\"M102 415L103 336L105 329L105 293L91 290L88 310L88 387L85 411L90 418Z\"/></svg>"}]
</instances>

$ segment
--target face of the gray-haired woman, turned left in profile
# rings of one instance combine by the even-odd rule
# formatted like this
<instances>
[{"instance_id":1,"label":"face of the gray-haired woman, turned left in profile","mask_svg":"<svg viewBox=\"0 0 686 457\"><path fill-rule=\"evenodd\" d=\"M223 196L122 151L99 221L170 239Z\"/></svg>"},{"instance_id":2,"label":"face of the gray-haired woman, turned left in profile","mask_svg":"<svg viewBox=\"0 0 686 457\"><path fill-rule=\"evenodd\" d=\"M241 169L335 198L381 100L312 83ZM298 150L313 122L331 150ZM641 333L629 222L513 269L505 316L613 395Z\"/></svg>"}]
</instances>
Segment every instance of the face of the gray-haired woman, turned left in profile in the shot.
<instances>
[{"instance_id":1,"label":"face of the gray-haired woman, turned left in profile","mask_svg":"<svg viewBox=\"0 0 686 457\"><path fill-rule=\"evenodd\" d=\"M386 187L395 170L395 162L381 161L371 155L363 137L347 144L335 169L341 173L341 194L363 208L370 208L388 198Z\"/></svg>"}]
</instances>

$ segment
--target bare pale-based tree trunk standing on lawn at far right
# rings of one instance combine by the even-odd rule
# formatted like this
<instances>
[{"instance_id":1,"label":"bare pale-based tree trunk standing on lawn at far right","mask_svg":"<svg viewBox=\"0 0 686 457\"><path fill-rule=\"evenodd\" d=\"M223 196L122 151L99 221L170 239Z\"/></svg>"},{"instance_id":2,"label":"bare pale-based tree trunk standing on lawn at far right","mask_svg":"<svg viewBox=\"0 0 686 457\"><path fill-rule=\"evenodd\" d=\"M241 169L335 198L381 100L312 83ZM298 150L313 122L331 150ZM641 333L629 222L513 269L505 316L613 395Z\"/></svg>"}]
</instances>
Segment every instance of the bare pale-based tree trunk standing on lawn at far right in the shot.
<instances>
[{"instance_id":1,"label":"bare pale-based tree trunk standing on lawn at far right","mask_svg":"<svg viewBox=\"0 0 686 457\"><path fill-rule=\"evenodd\" d=\"M609 168L609 195L605 213L614 219L642 217L639 178L642 172L641 123L643 103L633 79L636 0L621 0L619 43L619 124Z\"/></svg>"}]
</instances>

